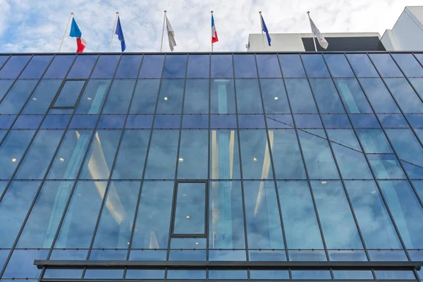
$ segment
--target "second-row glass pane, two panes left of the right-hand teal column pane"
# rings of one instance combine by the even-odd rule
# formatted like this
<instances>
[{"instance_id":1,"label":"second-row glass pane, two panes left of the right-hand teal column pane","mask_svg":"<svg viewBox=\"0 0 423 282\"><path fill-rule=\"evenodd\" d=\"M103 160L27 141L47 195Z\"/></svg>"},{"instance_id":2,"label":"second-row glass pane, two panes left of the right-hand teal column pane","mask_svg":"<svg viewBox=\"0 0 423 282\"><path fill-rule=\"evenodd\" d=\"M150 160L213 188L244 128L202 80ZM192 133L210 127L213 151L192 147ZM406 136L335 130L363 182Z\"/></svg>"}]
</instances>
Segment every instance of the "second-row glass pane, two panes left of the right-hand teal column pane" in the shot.
<instances>
[{"instance_id":1,"label":"second-row glass pane, two panes left of the right-hand teal column pane","mask_svg":"<svg viewBox=\"0 0 423 282\"><path fill-rule=\"evenodd\" d=\"M287 79L286 91L294 114L317 114L316 104L305 79Z\"/></svg>"}]
</instances>

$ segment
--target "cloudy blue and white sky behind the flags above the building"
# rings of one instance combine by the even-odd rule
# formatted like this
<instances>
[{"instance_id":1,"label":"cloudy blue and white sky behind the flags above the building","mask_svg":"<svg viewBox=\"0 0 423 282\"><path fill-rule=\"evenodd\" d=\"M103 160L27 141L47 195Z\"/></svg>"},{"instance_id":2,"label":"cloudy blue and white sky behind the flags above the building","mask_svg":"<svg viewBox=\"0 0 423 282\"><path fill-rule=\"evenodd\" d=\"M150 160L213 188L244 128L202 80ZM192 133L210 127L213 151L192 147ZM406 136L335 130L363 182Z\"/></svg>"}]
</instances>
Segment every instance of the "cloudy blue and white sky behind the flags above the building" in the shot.
<instances>
[{"instance_id":1,"label":"cloudy blue and white sky behind the flags above the building","mask_svg":"<svg viewBox=\"0 0 423 282\"><path fill-rule=\"evenodd\" d=\"M116 12L129 52L160 51L164 10L175 31L175 51L210 51L214 11L219 42L214 51L245 51L250 33L261 32L259 11L271 33L310 32L307 11L321 32L383 35L405 6L422 0L0 0L0 52L56 52L71 12L87 52L109 51ZM76 50L68 37L61 51ZM169 51L164 39L164 51ZM111 51L120 51L114 36Z\"/></svg>"}]
</instances>

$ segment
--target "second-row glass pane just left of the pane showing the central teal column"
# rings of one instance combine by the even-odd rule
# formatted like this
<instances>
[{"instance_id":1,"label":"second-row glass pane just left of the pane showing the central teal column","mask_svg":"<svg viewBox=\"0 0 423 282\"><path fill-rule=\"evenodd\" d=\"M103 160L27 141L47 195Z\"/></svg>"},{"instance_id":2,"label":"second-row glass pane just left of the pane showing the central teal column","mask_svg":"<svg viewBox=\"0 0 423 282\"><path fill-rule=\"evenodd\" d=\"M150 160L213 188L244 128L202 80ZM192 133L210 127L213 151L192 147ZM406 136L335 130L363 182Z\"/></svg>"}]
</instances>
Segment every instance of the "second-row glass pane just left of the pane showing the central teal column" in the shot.
<instances>
[{"instance_id":1,"label":"second-row glass pane just left of the pane showing the central teal column","mask_svg":"<svg viewBox=\"0 0 423 282\"><path fill-rule=\"evenodd\" d=\"M184 114L209 114L209 80L187 80Z\"/></svg>"}]
</instances>

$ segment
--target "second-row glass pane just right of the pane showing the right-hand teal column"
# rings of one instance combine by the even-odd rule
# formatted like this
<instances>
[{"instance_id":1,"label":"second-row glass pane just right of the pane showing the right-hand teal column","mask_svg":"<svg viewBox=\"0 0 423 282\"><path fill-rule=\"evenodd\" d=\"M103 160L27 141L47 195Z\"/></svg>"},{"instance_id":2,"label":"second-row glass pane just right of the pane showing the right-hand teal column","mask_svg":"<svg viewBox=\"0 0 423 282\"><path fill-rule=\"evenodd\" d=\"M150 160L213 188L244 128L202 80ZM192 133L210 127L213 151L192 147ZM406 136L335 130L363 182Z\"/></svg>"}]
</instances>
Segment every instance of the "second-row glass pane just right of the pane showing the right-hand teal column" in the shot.
<instances>
[{"instance_id":1,"label":"second-row glass pane just right of the pane showing the right-hand teal column","mask_svg":"<svg viewBox=\"0 0 423 282\"><path fill-rule=\"evenodd\" d=\"M401 112L380 78L360 78L360 83L376 113Z\"/></svg>"}]
</instances>

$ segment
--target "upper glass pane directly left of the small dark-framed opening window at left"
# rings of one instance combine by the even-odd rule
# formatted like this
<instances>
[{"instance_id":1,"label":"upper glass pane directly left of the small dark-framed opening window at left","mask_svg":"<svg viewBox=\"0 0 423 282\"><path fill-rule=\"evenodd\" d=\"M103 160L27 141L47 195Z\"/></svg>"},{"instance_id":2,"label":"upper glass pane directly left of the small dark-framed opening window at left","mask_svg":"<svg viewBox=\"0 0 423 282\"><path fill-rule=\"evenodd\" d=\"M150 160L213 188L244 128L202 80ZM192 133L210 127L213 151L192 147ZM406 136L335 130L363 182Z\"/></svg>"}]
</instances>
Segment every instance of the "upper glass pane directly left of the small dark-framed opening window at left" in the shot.
<instances>
[{"instance_id":1,"label":"upper glass pane directly left of the small dark-framed opening window at left","mask_svg":"<svg viewBox=\"0 0 423 282\"><path fill-rule=\"evenodd\" d=\"M23 109L22 114L45 114L61 83L61 80L41 80Z\"/></svg>"}]
</instances>

